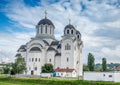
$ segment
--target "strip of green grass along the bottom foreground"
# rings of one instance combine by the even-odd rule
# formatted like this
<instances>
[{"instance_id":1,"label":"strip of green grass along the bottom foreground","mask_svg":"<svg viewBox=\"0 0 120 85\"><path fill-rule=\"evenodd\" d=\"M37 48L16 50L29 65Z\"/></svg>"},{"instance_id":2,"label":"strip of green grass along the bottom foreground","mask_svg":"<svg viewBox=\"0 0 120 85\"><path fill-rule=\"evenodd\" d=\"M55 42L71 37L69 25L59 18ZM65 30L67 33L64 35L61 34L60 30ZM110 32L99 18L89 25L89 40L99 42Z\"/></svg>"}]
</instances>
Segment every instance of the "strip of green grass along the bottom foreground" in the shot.
<instances>
[{"instance_id":1,"label":"strip of green grass along the bottom foreground","mask_svg":"<svg viewBox=\"0 0 120 85\"><path fill-rule=\"evenodd\" d=\"M51 78L6 78L4 76L0 76L0 85L120 85L120 83L84 80L57 80Z\"/></svg>"}]
</instances>

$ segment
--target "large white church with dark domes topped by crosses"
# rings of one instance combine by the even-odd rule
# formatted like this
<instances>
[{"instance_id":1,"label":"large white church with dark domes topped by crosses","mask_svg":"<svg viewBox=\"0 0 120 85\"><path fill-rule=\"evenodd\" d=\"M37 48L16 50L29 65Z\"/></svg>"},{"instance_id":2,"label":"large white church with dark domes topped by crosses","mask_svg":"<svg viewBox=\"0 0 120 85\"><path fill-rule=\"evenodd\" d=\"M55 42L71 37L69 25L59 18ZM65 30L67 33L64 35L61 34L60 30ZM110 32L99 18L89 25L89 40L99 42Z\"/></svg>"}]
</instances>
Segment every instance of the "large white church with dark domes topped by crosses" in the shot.
<instances>
[{"instance_id":1,"label":"large white church with dark domes topped by crosses","mask_svg":"<svg viewBox=\"0 0 120 85\"><path fill-rule=\"evenodd\" d=\"M47 18L36 25L36 35L25 45L21 45L17 56L25 58L28 75L40 75L41 67L50 63L57 72L75 71L75 76L83 75L81 33L70 23L64 27L64 35L57 40L55 25ZM61 29L61 28L60 28Z\"/></svg>"}]
</instances>

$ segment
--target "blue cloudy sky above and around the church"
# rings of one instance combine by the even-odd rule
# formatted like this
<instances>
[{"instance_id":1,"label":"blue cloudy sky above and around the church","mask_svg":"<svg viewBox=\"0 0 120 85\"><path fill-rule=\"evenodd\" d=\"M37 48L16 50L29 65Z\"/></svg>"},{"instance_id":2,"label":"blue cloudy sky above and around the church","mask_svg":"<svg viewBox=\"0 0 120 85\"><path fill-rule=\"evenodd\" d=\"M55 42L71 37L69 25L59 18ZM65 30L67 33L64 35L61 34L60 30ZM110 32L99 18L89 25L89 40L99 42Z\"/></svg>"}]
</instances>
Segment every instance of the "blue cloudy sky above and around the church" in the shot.
<instances>
[{"instance_id":1,"label":"blue cloudy sky above and around the church","mask_svg":"<svg viewBox=\"0 0 120 85\"><path fill-rule=\"evenodd\" d=\"M95 63L103 57L120 63L120 0L0 0L0 61L14 61L18 48L35 37L45 10L58 40L69 19L80 31L84 64L88 53Z\"/></svg>"}]
</instances>

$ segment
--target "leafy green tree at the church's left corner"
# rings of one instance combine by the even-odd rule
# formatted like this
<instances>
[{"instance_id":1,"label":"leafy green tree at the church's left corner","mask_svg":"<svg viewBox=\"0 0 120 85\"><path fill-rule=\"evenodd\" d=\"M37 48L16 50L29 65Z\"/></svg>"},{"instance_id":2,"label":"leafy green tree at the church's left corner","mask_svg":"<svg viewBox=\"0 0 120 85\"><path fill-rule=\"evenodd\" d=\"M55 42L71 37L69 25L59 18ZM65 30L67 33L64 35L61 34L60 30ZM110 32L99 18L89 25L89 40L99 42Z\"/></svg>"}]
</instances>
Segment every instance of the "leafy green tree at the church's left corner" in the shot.
<instances>
[{"instance_id":1,"label":"leafy green tree at the church's left corner","mask_svg":"<svg viewBox=\"0 0 120 85\"><path fill-rule=\"evenodd\" d=\"M26 70L26 63L21 56L17 57L15 63L12 64L11 74L20 74Z\"/></svg>"}]
</instances>

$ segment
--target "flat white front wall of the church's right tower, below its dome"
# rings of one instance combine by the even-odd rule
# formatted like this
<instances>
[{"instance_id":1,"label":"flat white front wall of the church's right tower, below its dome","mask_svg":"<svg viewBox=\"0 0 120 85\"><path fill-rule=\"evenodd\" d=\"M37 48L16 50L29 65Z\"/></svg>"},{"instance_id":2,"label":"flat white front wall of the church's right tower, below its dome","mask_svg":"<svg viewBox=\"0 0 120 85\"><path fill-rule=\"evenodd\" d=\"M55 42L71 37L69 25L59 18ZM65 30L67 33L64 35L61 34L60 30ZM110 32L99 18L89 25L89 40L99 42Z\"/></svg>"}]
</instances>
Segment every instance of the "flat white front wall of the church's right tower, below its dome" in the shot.
<instances>
[{"instance_id":1,"label":"flat white front wall of the church's right tower, below its dome","mask_svg":"<svg viewBox=\"0 0 120 85\"><path fill-rule=\"evenodd\" d=\"M69 44L70 50L65 50L65 45ZM73 42L72 40L64 40L62 41L62 48L61 48L61 68L74 68L74 57L73 57ZM68 59L67 59L68 58Z\"/></svg>"}]
</instances>

